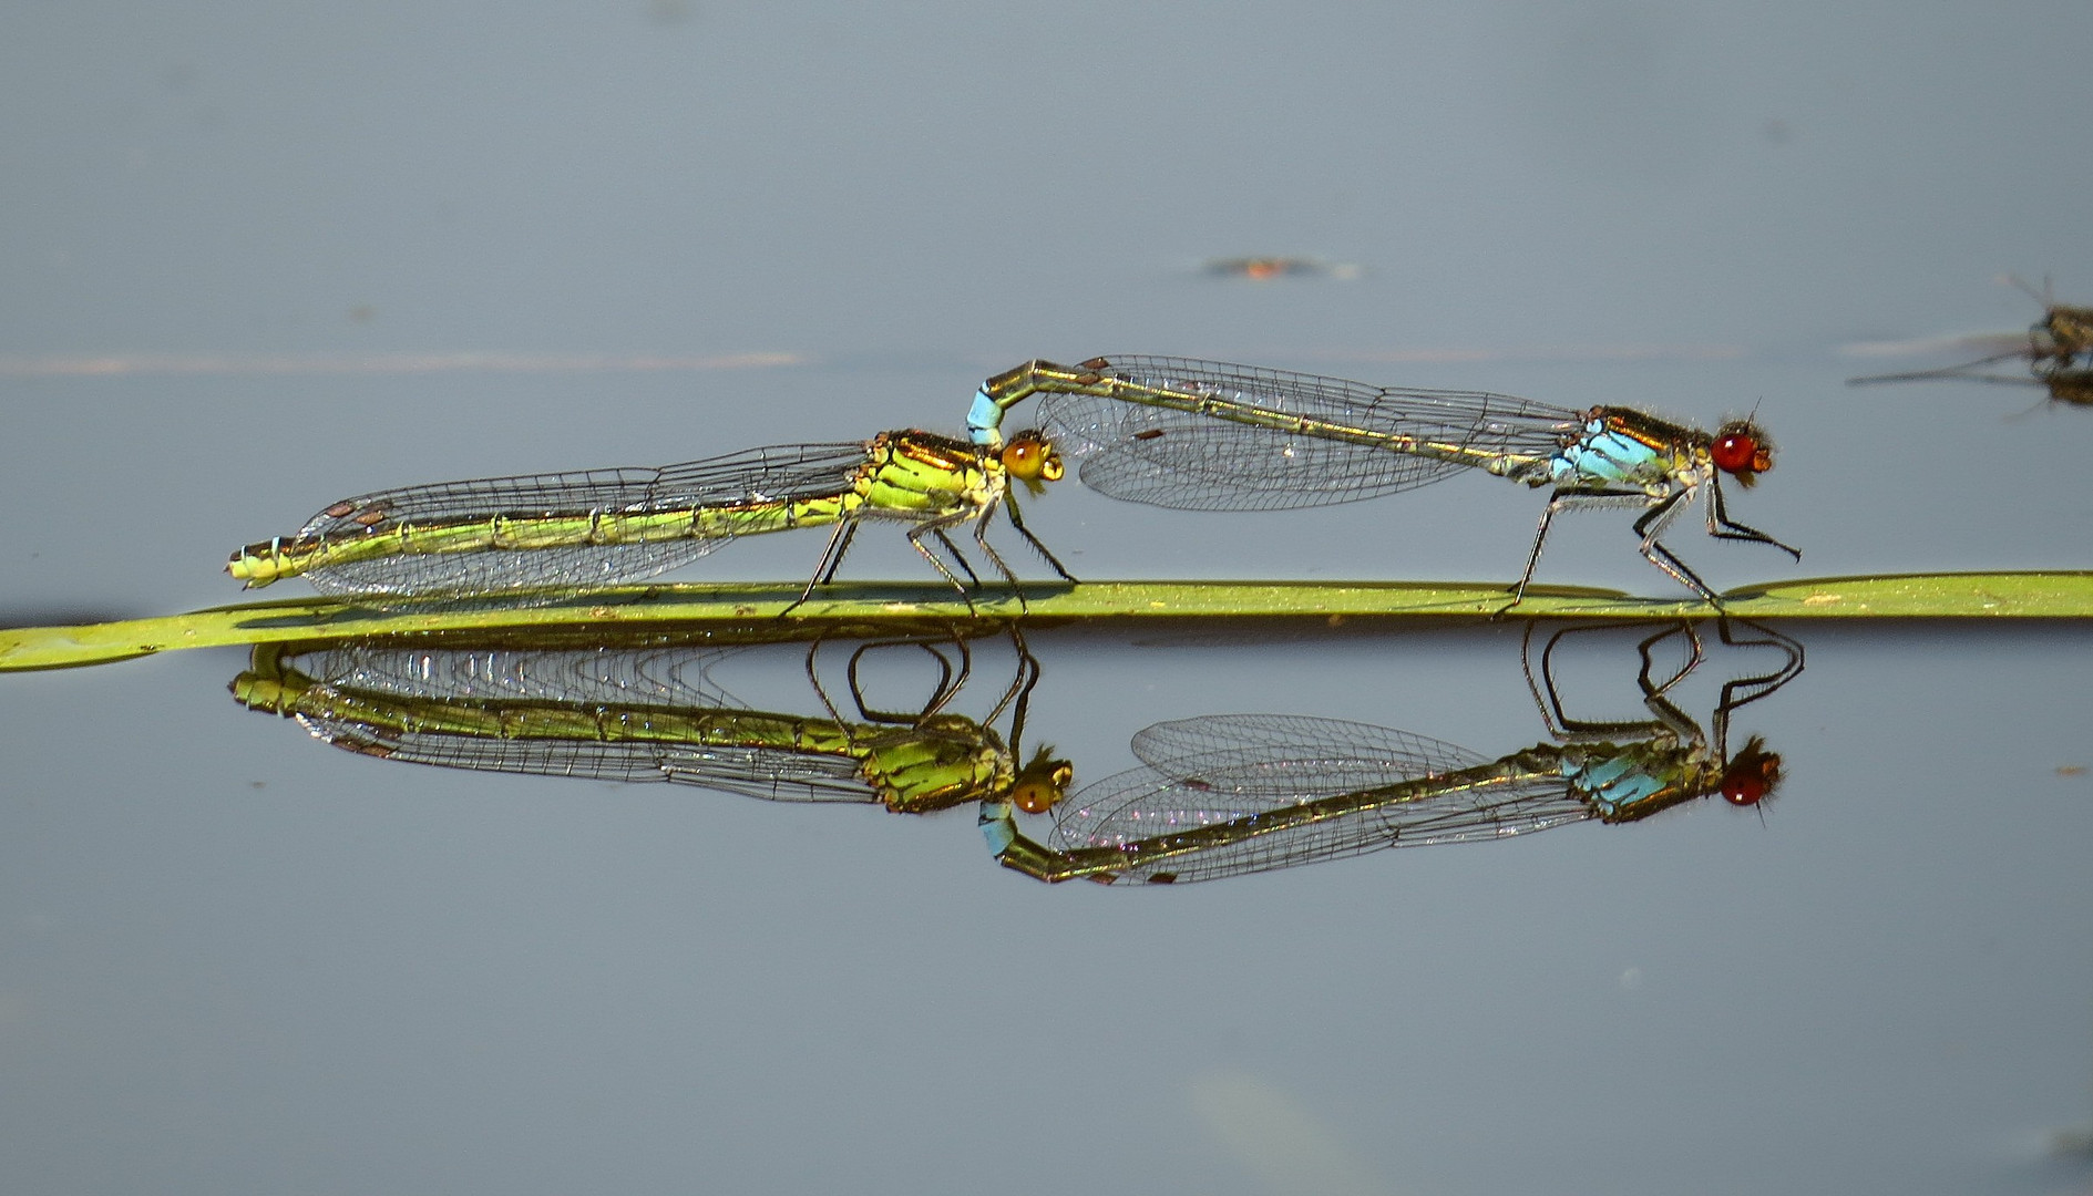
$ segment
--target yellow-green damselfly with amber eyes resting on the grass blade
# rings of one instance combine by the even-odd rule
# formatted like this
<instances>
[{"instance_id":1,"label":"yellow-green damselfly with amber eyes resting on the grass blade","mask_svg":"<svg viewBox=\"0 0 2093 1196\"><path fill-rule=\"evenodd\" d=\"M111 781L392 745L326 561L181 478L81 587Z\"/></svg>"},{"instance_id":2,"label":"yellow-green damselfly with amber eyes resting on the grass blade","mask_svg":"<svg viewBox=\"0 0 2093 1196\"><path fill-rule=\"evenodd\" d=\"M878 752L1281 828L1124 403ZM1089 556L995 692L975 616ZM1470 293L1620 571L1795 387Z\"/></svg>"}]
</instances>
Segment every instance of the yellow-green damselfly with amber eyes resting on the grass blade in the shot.
<instances>
[{"instance_id":1,"label":"yellow-green damselfly with amber eyes resting on the grass blade","mask_svg":"<svg viewBox=\"0 0 2093 1196\"><path fill-rule=\"evenodd\" d=\"M594 468L452 481L341 500L297 535L249 544L226 571L247 588L303 575L327 594L477 596L586 592L643 581L739 535L833 527L808 594L835 577L858 525L908 527L908 544L967 588L925 544L936 539L980 583L946 531L973 525L973 542L1003 575L1017 575L988 544L1000 504L1011 527L1067 577L1023 525L1011 481L1034 493L1061 477L1038 433L994 450L921 431L862 443L772 445L661 468ZM804 600L804 598L802 598ZM971 600L969 600L971 604Z\"/></svg>"}]
</instances>

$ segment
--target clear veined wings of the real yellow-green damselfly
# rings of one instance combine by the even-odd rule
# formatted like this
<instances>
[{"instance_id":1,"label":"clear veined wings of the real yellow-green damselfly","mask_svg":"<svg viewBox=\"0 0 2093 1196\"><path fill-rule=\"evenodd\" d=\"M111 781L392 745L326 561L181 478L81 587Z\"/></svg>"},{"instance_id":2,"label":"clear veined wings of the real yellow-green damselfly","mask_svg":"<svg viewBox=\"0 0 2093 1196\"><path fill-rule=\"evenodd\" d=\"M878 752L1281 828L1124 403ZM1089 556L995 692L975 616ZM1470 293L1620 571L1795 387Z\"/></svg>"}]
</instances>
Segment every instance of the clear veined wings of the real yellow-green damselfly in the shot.
<instances>
[{"instance_id":1,"label":"clear veined wings of the real yellow-green damselfly","mask_svg":"<svg viewBox=\"0 0 2093 1196\"><path fill-rule=\"evenodd\" d=\"M852 485L862 441L770 445L661 468L592 468L383 489L314 514L299 539L350 539L389 527L509 519L588 519L597 512L672 512L697 506L797 502ZM695 560L730 537L691 535L638 544L391 554L306 573L327 594L473 594L643 581Z\"/></svg>"}]
</instances>

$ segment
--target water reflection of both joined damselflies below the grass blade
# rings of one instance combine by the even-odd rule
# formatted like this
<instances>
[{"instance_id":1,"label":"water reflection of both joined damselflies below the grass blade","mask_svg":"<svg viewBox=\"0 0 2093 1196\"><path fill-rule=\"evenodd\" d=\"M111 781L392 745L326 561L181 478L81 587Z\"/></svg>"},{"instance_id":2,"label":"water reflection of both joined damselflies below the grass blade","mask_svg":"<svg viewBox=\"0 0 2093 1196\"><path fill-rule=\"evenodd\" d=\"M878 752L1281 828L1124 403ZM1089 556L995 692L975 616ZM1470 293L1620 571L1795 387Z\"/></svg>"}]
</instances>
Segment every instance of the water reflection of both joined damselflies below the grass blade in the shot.
<instances>
[{"instance_id":1,"label":"water reflection of both joined damselflies below the grass blade","mask_svg":"<svg viewBox=\"0 0 2093 1196\"><path fill-rule=\"evenodd\" d=\"M793 623L749 631L753 644L793 642ZM806 677L823 713L756 711L714 680L735 648L504 648L406 646L257 648L234 696L295 715L314 736L393 761L475 772L592 780L666 780L772 801L881 803L931 813L975 803L998 861L1040 880L1208 880L1417 843L1503 838L1568 822L1639 822L1720 792L1754 805L1779 780L1779 757L1750 740L1729 755L1729 715L1802 669L1802 648L1764 631L1727 644L1773 646L1785 663L1731 680L1712 740L1670 692L1702 663L1687 623L1641 642L1639 684L1651 717L1580 721L1563 713L1555 631L1528 657L1528 680L1559 742L1499 759L1365 723L1296 715L1208 715L1134 736L1143 767L1063 797L1067 761L1051 749L1021 759L1038 663L1011 634L1017 667L986 717L952 711L971 671L965 640L925 634L873 640L848 654L854 711L820 680L820 640ZM1656 680L1653 644L1685 638L1689 659ZM800 640L804 642L804 640ZM883 648L923 648L940 677L921 707L883 711L860 671ZM959 667L950 665L959 659ZM1009 713L1009 732L996 719ZM1053 809L1049 845L1028 838L1017 811Z\"/></svg>"}]
</instances>

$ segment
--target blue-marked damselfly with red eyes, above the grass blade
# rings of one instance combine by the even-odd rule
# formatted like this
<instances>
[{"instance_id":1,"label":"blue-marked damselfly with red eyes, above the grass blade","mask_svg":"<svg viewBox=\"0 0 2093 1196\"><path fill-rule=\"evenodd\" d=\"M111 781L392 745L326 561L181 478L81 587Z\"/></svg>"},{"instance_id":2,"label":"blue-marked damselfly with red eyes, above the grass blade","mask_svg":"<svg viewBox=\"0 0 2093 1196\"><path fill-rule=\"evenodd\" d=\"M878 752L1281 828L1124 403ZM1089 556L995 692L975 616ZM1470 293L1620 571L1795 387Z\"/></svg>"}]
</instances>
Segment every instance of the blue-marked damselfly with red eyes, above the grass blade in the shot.
<instances>
[{"instance_id":1,"label":"blue-marked damselfly with red eyes, above the grass blade","mask_svg":"<svg viewBox=\"0 0 2093 1196\"><path fill-rule=\"evenodd\" d=\"M1354 502L1478 468L1553 487L1513 602L1540 562L1559 510L1641 506L1641 554L1720 606L1660 535L1706 493L1708 535L1771 544L1729 519L1723 475L1750 487L1773 468L1752 420L1710 437L1628 408L1553 408L1482 391L1369 387L1342 378L1193 362L1090 358L996 374L967 414L975 443L1003 443L1003 412L1040 399L1040 424L1082 460L1082 481L1113 498L1191 510L1283 510Z\"/></svg>"}]
</instances>

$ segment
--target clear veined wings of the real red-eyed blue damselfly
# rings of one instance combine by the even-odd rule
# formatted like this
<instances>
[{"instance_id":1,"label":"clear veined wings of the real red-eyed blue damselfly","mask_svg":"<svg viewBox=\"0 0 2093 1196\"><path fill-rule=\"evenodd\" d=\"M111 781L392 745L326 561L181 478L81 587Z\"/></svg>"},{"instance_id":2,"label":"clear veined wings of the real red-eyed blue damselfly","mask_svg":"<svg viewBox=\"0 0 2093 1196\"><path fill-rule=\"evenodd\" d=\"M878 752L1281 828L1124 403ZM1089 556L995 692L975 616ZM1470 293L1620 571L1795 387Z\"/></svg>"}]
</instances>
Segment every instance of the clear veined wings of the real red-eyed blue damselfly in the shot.
<instances>
[{"instance_id":1,"label":"clear veined wings of the real red-eyed blue damselfly","mask_svg":"<svg viewBox=\"0 0 2093 1196\"><path fill-rule=\"evenodd\" d=\"M1101 493L1191 510L1285 510L1413 489L1492 456L1547 456L1582 414L1492 395L1369 387L1187 358L1107 358L1136 389L1199 395L1199 410L1049 393L1040 422ZM1406 452L1459 445L1471 460Z\"/></svg>"}]
</instances>

